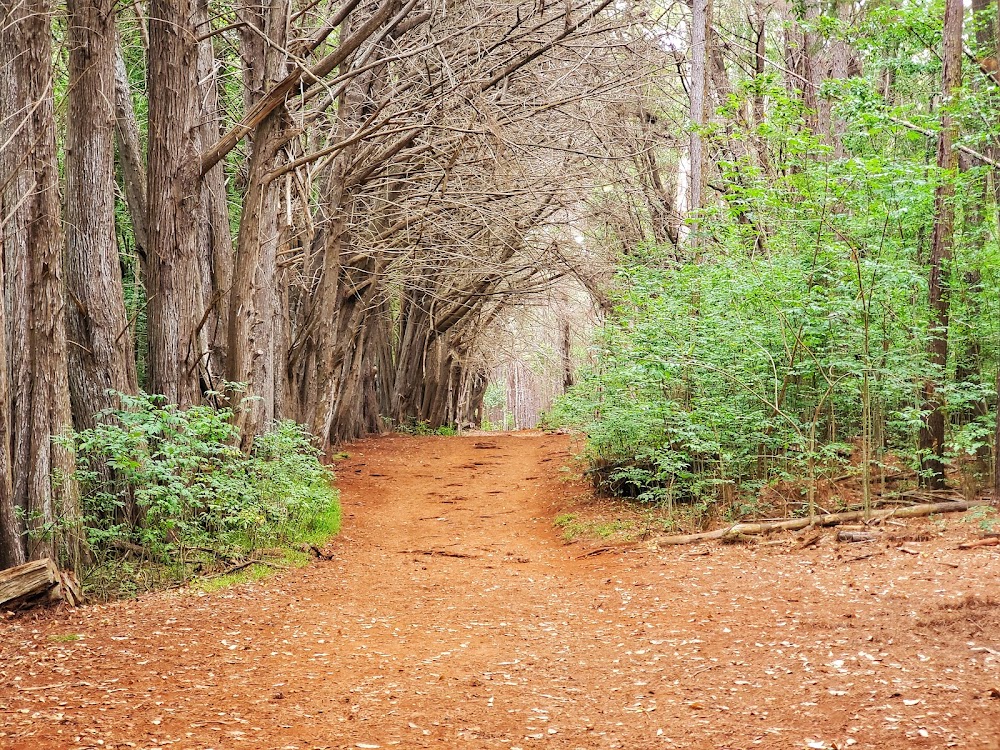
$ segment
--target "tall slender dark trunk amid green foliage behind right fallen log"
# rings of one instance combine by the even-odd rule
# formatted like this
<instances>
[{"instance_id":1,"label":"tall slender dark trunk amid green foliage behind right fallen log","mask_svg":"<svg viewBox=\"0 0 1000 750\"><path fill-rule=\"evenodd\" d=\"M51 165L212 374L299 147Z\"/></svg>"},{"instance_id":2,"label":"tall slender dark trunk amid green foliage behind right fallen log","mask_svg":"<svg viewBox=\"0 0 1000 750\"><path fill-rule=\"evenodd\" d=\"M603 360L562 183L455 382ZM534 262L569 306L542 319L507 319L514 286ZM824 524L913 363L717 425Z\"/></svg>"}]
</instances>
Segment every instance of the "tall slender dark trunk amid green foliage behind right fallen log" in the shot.
<instances>
[{"instance_id":1,"label":"tall slender dark trunk amid green foliage behind right fallen log","mask_svg":"<svg viewBox=\"0 0 1000 750\"><path fill-rule=\"evenodd\" d=\"M955 195L954 171L958 167L958 152L954 148L958 123L951 116L951 99L962 83L962 0L947 0L942 38L941 93L945 101L941 108L941 135L938 138L937 166L940 183L934 197L934 235L931 244L928 297L931 313L928 358L935 368L924 381L923 401L926 417L920 429L922 468L925 483L931 489L944 487L945 413L941 384L948 365L948 273L954 242Z\"/></svg>"}]
</instances>

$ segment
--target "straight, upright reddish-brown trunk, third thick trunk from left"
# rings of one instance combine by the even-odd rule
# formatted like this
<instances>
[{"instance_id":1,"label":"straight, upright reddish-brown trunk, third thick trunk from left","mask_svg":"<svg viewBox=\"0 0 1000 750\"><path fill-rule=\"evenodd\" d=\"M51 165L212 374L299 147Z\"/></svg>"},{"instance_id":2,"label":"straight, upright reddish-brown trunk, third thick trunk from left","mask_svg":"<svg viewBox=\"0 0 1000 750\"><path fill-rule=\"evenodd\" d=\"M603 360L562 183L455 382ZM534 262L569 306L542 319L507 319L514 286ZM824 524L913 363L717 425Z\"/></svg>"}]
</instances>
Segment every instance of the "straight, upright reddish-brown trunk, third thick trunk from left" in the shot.
<instances>
[{"instance_id":1,"label":"straight, upright reddish-brown trunk, third thick trunk from left","mask_svg":"<svg viewBox=\"0 0 1000 750\"><path fill-rule=\"evenodd\" d=\"M201 160L198 43L192 0L149 4L149 234L146 292L150 390L190 406L201 398L204 313L198 273Z\"/></svg>"}]
</instances>

